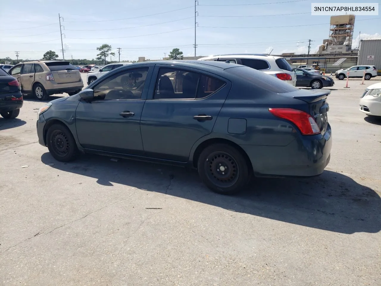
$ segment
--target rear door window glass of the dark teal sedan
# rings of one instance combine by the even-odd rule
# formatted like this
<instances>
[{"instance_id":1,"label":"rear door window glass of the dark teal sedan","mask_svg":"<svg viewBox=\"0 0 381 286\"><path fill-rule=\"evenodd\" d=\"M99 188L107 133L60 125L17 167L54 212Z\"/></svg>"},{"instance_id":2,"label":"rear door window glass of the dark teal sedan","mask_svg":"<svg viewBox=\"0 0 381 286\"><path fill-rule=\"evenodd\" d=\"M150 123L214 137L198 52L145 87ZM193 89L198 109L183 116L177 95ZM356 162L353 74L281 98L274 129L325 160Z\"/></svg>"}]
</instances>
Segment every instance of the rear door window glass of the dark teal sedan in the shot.
<instances>
[{"instance_id":1,"label":"rear door window glass of the dark teal sedan","mask_svg":"<svg viewBox=\"0 0 381 286\"><path fill-rule=\"evenodd\" d=\"M154 99L204 98L221 88L225 82L197 72L160 68Z\"/></svg>"}]
</instances>

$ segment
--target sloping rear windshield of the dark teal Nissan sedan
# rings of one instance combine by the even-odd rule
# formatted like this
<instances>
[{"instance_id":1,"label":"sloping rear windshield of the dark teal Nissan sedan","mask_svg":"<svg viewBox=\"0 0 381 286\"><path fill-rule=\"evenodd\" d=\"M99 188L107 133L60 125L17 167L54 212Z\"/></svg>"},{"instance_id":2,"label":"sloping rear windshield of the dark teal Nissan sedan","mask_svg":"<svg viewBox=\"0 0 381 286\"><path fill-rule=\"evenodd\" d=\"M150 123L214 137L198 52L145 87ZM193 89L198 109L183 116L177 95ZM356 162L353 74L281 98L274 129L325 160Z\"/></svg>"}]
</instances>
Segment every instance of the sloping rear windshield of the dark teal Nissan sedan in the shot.
<instances>
[{"instance_id":1,"label":"sloping rear windshield of the dark teal Nissan sedan","mask_svg":"<svg viewBox=\"0 0 381 286\"><path fill-rule=\"evenodd\" d=\"M246 80L255 87L259 87L270 92L286 93L299 90L299 88L293 87L292 85L283 82L283 80L252 69L251 67L232 67L230 69L226 69L226 71L239 76L241 79Z\"/></svg>"}]
</instances>

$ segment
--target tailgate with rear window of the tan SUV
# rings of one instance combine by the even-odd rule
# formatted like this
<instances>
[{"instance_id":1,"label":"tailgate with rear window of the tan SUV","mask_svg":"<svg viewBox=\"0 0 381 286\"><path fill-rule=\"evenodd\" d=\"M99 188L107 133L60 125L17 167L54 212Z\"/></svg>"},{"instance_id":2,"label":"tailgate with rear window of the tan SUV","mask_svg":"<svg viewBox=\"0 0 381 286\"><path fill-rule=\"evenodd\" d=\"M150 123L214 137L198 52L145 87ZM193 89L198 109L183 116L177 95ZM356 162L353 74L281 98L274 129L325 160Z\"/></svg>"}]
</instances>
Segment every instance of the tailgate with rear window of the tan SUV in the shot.
<instances>
[{"instance_id":1,"label":"tailgate with rear window of the tan SUV","mask_svg":"<svg viewBox=\"0 0 381 286\"><path fill-rule=\"evenodd\" d=\"M57 84L81 81L80 72L68 61L45 62Z\"/></svg>"}]
</instances>

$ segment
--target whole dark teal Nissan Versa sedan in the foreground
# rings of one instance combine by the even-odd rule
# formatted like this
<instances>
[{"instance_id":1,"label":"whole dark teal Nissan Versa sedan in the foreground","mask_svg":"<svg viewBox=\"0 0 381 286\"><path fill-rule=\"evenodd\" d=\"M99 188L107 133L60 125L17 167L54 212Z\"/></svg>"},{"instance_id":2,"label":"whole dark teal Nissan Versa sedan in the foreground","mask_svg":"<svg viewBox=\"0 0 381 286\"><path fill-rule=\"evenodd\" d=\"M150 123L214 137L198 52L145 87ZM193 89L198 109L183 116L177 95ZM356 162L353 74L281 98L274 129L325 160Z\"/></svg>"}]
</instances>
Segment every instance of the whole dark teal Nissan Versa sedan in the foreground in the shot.
<instances>
[{"instance_id":1,"label":"whole dark teal Nissan Versa sedan in the foreground","mask_svg":"<svg viewBox=\"0 0 381 286\"><path fill-rule=\"evenodd\" d=\"M43 106L38 141L61 162L83 152L188 165L211 190L233 194L251 175L323 172L329 93L232 63L135 63Z\"/></svg>"}]
</instances>

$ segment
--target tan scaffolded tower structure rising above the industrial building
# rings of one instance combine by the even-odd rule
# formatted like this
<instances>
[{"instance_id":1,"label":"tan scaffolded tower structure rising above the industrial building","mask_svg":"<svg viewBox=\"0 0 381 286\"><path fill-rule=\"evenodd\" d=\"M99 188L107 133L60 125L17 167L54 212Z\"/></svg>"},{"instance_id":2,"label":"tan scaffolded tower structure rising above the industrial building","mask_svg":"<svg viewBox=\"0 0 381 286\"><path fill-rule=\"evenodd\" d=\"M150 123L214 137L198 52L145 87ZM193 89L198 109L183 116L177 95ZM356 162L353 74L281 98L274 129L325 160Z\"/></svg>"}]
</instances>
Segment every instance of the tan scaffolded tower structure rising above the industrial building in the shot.
<instances>
[{"instance_id":1,"label":"tan scaffolded tower structure rising above the industrial building","mask_svg":"<svg viewBox=\"0 0 381 286\"><path fill-rule=\"evenodd\" d=\"M355 15L331 16L328 46L352 46Z\"/></svg>"}]
</instances>

